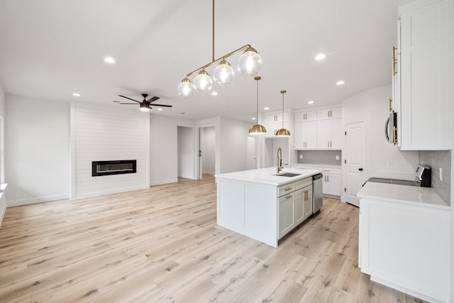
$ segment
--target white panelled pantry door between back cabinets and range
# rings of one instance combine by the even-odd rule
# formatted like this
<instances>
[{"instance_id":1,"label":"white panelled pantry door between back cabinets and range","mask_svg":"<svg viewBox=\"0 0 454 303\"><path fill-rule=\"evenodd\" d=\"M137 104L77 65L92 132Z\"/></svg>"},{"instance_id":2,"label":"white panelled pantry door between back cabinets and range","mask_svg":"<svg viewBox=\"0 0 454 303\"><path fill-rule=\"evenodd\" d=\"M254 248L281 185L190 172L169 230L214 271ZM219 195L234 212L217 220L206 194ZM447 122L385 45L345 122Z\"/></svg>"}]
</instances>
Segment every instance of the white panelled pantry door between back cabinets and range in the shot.
<instances>
[{"instance_id":1,"label":"white panelled pantry door between back cabinets and range","mask_svg":"<svg viewBox=\"0 0 454 303\"><path fill-rule=\"evenodd\" d=\"M345 125L345 201L360 206L356 196L364 182L365 166L364 121Z\"/></svg>"}]
</instances>

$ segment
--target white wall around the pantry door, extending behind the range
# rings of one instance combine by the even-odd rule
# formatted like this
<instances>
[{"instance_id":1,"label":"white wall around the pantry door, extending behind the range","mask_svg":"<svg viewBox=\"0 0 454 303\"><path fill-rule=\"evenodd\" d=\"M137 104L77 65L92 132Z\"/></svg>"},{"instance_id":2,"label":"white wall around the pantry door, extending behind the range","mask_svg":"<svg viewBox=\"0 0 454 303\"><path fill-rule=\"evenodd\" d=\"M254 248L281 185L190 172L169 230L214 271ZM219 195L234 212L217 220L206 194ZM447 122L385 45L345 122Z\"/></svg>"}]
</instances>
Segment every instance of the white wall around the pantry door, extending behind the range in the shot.
<instances>
[{"instance_id":1,"label":"white wall around the pantry door, extending behind the range","mask_svg":"<svg viewBox=\"0 0 454 303\"><path fill-rule=\"evenodd\" d=\"M345 124L365 121L366 163L362 182L376 172L412 174L419 160L417 151L401 152L384 138L384 123L389 116L388 100L391 94L391 86L377 87L342 101L344 130ZM345 201L345 198L341 197L341 199Z\"/></svg>"}]
</instances>

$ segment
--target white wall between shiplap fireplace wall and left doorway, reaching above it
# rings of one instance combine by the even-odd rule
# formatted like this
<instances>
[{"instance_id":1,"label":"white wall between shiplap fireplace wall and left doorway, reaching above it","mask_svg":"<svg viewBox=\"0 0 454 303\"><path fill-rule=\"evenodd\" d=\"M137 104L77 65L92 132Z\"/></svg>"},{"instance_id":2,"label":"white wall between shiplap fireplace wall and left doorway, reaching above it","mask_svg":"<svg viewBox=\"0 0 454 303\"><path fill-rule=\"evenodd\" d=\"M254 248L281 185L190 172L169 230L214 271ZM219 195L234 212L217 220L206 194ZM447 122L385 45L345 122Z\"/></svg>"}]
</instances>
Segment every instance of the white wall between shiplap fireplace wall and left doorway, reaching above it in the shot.
<instances>
[{"instance_id":1,"label":"white wall between shiplap fireplace wall and left doorway, reaching above it","mask_svg":"<svg viewBox=\"0 0 454 303\"><path fill-rule=\"evenodd\" d=\"M178 126L194 121L150 114L150 185L178 181Z\"/></svg>"}]
</instances>

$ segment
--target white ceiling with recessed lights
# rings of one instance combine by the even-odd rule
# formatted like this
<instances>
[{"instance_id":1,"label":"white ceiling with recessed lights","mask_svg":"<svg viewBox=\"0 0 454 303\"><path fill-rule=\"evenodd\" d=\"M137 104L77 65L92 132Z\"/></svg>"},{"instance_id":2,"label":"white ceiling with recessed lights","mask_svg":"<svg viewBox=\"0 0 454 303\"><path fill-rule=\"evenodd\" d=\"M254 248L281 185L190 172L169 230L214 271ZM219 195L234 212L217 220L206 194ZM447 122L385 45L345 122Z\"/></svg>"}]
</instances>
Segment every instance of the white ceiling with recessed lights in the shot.
<instances>
[{"instance_id":1,"label":"white ceiling with recessed lights","mask_svg":"<svg viewBox=\"0 0 454 303\"><path fill-rule=\"evenodd\" d=\"M409 1L217 0L215 57L246 44L260 52L260 111L280 110L282 89L285 108L339 103L391 84L397 6ZM211 62L211 9L211 0L0 0L0 84L9 94L109 106L145 92L173 105L156 114L251 121L256 83L239 73L230 87L214 86L216 97L177 95L188 72Z\"/></svg>"}]
</instances>

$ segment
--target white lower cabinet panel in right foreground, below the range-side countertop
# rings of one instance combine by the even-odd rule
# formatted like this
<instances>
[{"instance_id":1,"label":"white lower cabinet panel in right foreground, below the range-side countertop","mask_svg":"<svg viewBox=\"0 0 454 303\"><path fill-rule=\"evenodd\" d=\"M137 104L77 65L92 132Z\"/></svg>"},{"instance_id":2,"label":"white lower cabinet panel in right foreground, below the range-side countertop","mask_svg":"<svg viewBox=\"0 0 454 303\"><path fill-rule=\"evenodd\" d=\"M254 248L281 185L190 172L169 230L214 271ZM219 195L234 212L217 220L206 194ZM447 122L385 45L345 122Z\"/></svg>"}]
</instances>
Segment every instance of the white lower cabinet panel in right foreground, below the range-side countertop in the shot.
<instances>
[{"instance_id":1,"label":"white lower cabinet panel in right foreground, below the range-side countertop","mask_svg":"<svg viewBox=\"0 0 454 303\"><path fill-rule=\"evenodd\" d=\"M448 302L450 210L361 199L358 266L370 280Z\"/></svg>"}]
</instances>

